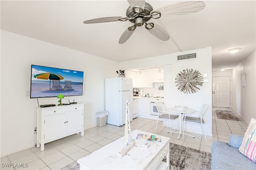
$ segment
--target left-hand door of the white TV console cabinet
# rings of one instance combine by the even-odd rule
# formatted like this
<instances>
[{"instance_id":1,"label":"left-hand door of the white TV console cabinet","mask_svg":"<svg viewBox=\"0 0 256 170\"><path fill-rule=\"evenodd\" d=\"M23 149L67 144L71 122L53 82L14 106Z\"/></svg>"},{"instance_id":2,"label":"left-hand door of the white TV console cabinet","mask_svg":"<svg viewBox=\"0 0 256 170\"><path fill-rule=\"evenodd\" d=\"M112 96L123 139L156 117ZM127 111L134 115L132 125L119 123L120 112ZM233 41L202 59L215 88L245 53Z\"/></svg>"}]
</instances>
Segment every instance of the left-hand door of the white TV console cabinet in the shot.
<instances>
[{"instance_id":1,"label":"left-hand door of the white TV console cabinet","mask_svg":"<svg viewBox=\"0 0 256 170\"><path fill-rule=\"evenodd\" d=\"M46 116L44 120L44 141L53 141L65 135L66 114Z\"/></svg>"}]
</instances>

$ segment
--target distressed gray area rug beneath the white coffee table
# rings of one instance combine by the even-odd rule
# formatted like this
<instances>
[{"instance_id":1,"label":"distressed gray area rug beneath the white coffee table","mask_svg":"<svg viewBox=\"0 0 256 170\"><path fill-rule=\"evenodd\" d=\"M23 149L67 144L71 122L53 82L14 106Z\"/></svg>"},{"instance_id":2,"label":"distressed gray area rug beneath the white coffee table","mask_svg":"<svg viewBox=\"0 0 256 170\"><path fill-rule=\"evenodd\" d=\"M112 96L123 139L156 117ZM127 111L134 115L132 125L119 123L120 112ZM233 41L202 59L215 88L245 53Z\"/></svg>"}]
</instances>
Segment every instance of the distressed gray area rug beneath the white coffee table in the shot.
<instances>
[{"instance_id":1,"label":"distressed gray area rug beneath the white coffee table","mask_svg":"<svg viewBox=\"0 0 256 170\"><path fill-rule=\"evenodd\" d=\"M212 154L201 150L170 143L171 170L210 170ZM163 160L166 162L166 160ZM79 170L75 161L60 170Z\"/></svg>"}]
</instances>

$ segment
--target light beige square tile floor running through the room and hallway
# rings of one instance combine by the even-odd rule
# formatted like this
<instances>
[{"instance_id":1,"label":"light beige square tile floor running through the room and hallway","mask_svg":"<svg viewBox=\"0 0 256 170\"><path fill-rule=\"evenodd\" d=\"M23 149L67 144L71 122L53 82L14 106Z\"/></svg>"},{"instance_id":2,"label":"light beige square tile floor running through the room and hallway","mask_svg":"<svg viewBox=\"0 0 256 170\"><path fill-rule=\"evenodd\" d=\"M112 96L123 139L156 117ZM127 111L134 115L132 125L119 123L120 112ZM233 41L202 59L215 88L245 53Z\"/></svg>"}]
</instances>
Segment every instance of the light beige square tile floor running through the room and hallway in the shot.
<instances>
[{"instance_id":1,"label":"light beige square tile floor running through the room and hallway","mask_svg":"<svg viewBox=\"0 0 256 170\"><path fill-rule=\"evenodd\" d=\"M173 133L171 142L186 147L191 147L206 152L211 152L212 143L214 140L228 142L230 134L244 135L248 124L244 121L230 121L218 119L215 110L232 110L226 107L214 107L212 109L212 137L207 136L207 143L204 136L194 135L195 138L184 136L180 140L177 139L178 134ZM155 133L156 120L136 118L131 121L132 130L139 129ZM170 137L166 131L169 127L162 128L162 122L159 123L156 133L159 135ZM83 156L100 149L101 147L111 143L112 141L124 135L124 126L117 127L114 125L106 125L104 127L92 127L84 131L84 136L71 135L50 143L45 144L45 150L40 151L40 148L32 147L22 150L1 158L1 169L30 169L30 170L58 170ZM5 168L4 163L28 164L24 168ZM10 165L10 164L9 164Z\"/></svg>"}]
</instances>

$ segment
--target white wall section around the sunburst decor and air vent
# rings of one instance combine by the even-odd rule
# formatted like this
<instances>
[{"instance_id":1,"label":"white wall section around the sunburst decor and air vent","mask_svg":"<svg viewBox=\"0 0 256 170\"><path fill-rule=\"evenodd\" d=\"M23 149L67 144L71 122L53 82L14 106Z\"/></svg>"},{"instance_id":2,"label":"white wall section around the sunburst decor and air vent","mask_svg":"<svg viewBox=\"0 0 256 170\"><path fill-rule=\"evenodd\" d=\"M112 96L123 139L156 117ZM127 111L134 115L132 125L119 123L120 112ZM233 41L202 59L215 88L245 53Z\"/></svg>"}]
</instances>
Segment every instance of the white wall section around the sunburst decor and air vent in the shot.
<instances>
[{"instance_id":1,"label":"white wall section around the sunburst decor and air vent","mask_svg":"<svg viewBox=\"0 0 256 170\"><path fill-rule=\"evenodd\" d=\"M196 59L177 60L177 55L196 53ZM162 55L156 57L148 57L145 59L138 59L126 62L120 62L121 69L156 67L164 65L164 103L166 107L173 107L175 105L185 105L187 107L199 110L203 103L208 105L208 109L204 115L206 124L204 130L206 135L212 136L212 48L202 48L182 53L174 53L169 55ZM204 83L200 90L194 94L184 94L176 88L176 75L186 69L193 68L198 70L202 76L207 73L206 77L209 82ZM207 90L209 94L204 94ZM190 123L191 125L192 123ZM190 126L186 125L186 131L200 133L200 125ZM193 130L194 129L194 130Z\"/></svg>"}]
</instances>

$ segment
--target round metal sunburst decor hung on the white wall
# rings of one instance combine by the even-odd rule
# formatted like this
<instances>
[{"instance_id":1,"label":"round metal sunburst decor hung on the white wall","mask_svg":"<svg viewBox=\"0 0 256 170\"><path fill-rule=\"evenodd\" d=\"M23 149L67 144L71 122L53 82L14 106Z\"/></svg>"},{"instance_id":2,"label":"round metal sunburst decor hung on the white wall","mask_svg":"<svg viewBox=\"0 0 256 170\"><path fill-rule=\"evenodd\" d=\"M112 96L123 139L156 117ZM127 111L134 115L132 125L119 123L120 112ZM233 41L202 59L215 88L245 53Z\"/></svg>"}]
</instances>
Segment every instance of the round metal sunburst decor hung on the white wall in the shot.
<instances>
[{"instance_id":1,"label":"round metal sunburst decor hung on the white wall","mask_svg":"<svg viewBox=\"0 0 256 170\"><path fill-rule=\"evenodd\" d=\"M176 87L178 87L178 90L186 94L197 92L200 90L198 86L202 86L204 82L204 78L201 73L198 72L198 70L193 70L192 68L178 73L175 80L177 80L175 83L177 83Z\"/></svg>"}]
</instances>

